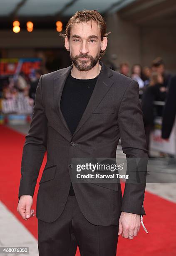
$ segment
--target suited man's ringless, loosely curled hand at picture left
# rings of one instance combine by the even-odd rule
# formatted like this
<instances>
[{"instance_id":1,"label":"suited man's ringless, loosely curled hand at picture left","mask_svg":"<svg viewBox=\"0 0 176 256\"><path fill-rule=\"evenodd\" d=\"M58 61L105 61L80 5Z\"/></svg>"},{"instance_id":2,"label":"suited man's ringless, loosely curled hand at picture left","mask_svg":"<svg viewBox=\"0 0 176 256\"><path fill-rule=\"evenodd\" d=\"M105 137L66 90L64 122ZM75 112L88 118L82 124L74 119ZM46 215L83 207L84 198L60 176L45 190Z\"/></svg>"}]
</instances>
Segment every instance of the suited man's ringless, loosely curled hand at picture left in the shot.
<instances>
[{"instance_id":1,"label":"suited man's ringless, loosely curled hand at picture left","mask_svg":"<svg viewBox=\"0 0 176 256\"><path fill-rule=\"evenodd\" d=\"M34 209L31 209L33 198L30 195L21 195L17 206L17 212L24 220L35 216Z\"/></svg>"}]
</instances>

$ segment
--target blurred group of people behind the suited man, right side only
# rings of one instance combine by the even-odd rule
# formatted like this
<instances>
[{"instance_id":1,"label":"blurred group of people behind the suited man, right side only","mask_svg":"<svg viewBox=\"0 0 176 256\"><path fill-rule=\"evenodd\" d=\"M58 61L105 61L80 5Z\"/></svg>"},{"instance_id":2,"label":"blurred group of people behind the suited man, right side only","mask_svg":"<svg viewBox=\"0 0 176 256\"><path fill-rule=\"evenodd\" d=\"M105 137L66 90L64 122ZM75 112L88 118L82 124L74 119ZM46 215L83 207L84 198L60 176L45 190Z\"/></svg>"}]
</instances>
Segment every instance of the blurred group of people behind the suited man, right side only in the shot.
<instances>
[{"instance_id":1,"label":"blurred group of people behind the suited man, right side only","mask_svg":"<svg viewBox=\"0 0 176 256\"><path fill-rule=\"evenodd\" d=\"M174 75L166 73L165 64L161 57L154 59L150 67L141 67L140 64L134 64L131 70L129 63L123 62L119 65L119 72L125 76L131 77L139 84L139 98L143 111L147 149L149 150L150 133L154 129L155 118L163 118L162 137L165 139L169 138L171 128L174 125L174 99L171 100L168 97L171 84L174 83L175 80ZM173 95L173 97L174 96L176 97L176 95ZM170 113L166 113L166 111L168 112L167 109L170 109L169 112L173 112L170 122L168 118L171 115Z\"/></svg>"}]
</instances>

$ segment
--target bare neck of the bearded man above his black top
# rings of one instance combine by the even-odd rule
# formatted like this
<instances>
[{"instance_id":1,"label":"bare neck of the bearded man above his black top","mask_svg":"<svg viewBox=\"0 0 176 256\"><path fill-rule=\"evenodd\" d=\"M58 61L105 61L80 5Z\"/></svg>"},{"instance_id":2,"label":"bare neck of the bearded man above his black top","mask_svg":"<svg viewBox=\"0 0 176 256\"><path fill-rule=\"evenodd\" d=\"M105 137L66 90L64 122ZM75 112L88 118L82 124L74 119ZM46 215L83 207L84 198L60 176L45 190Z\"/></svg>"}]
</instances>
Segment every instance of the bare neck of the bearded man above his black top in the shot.
<instances>
[{"instance_id":1,"label":"bare neck of the bearded man above his black top","mask_svg":"<svg viewBox=\"0 0 176 256\"><path fill-rule=\"evenodd\" d=\"M101 70L102 66L97 62L97 64L88 71L79 71L73 64L73 68L71 70L71 75L77 79L93 79L97 77Z\"/></svg>"}]
</instances>

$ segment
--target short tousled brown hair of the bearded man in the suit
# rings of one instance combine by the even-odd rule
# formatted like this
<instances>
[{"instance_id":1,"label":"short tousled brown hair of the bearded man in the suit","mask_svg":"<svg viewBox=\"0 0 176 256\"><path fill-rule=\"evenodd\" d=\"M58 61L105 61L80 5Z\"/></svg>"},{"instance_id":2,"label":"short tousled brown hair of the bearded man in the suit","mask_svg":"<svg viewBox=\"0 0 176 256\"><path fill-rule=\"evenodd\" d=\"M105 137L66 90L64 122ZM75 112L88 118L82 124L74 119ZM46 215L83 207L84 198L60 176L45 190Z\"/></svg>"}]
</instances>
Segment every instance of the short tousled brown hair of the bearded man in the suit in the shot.
<instances>
[{"instance_id":1,"label":"short tousled brown hair of the bearded man in the suit","mask_svg":"<svg viewBox=\"0 0 176 256\"><path fill-rule=\"evenodd\" d=\"M103 40L104 36L108 37L108 35L111 32L107 32L107 25L105 23L105 20L97 10L77 11L67 22L65 33L64 34L60 33L60 36L63 36L63 38L68 37L69 39L70 31L74 23L77 23L77 24L82 22L88 23L90 20L91 22L93 20L99 26L100 32L101 32L101 40ZM101 50L100 56L102 56L104 53L105 53L105 50L104 51Z\"/></svg>"}]
</instances>

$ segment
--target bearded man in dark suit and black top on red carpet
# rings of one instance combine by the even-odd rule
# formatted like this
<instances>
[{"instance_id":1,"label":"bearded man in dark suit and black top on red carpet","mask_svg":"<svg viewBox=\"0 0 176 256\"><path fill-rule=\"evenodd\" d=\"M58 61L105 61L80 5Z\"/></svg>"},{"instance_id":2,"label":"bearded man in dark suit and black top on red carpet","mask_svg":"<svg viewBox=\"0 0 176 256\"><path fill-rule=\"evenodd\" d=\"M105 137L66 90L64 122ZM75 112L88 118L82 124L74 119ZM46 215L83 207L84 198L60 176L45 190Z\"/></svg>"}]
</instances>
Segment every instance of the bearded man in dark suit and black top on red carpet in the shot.
<instances>
[{"instance_id":1,"label":"bearded man in dark suit and black top on red carpet","mask_svg":"<svg viewBox=\"0 0 176 256\"><path fill-rule=\"evenodd\" d=\"M122 201L118 182L73 180L74 159L115 159L120 137L128 158L148 157L139 85L99 61L107 35L96 10L75 13L64 35L73 64L41 76L37 86L17 210L25 220L34 215L32 197L47 150L37 195L40 256L75 255L77 245L82 256L115 256L118 235L137 236L145 214L145 183L126 184Z\"/></svg>"}]
</instances>

